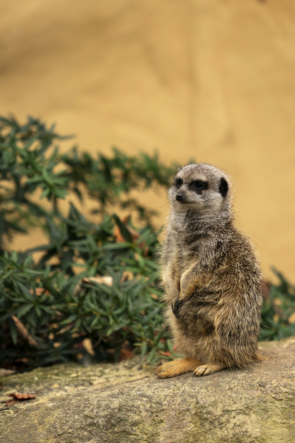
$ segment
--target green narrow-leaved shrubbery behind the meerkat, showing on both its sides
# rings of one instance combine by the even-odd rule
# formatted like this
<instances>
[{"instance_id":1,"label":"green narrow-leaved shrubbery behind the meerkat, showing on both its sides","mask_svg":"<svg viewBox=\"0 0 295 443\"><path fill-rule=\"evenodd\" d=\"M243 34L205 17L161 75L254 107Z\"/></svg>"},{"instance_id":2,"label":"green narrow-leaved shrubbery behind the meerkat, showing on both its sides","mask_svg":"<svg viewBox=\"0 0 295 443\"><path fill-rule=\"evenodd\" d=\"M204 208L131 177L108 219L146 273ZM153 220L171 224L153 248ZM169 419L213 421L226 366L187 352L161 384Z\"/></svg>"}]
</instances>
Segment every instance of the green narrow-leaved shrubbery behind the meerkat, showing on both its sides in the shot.
<instances>
[{"instance_id":1,"label":"green narrow-leaved shrubbery behind the meerkat, showing on both its sides","mask_svg":"<svg viewBox=\"0 0 295 443\"><path fill-rule=\"evenodd\" d=\"M83 358L85 338L96 361L117 361L122 350L151 363L169 359L175 352L161 315L159 232L153 211L130 195L166 189L176 167L156 154L117 149L96 158L77 148L62 155L54 146L62 138L33 118L24 125L0 118L0 362L33 367ZM97 223L70 202L73 196L95 202ZM120 220L114 206L128 209L132 220ZM9 253L13 234L36 225L48 242ZM89 280L95 276L112 284ZM295 334L294 288L279 277L267 293L262 338Z\"/></svg>"}]
</instances>

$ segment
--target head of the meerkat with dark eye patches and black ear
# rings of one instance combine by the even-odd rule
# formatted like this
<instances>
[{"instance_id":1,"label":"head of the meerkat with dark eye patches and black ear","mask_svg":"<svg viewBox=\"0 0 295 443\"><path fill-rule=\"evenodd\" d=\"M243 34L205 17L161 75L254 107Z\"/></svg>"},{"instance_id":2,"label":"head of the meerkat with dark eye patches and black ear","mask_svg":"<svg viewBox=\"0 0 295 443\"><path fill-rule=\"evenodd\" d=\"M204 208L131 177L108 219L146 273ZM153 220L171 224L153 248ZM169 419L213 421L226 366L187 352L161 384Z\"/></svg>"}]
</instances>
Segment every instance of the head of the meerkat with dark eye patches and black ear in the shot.
<instances>
[{"instance_id":1,"label":"head of the meerkat with dark eye patches and black ear","mask_svg":"<svg viewBox=\"0 0 295 443\"><path fill-rule=\"evenodd\" d=\"M204 163L179 169L168 196L175 210L216 213L230 208L231 183L225 172Z\"/></svg>"}]
</instances>

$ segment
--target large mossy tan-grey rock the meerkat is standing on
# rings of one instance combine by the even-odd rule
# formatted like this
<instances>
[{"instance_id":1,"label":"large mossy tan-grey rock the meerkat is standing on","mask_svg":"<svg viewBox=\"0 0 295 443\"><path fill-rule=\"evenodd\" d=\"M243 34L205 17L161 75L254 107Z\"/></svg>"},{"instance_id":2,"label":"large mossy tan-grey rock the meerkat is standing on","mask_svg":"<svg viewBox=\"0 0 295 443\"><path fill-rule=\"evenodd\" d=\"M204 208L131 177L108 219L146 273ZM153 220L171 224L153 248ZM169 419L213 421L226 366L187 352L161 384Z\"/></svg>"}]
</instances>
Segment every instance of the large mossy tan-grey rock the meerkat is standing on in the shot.
<instances>
[{"instance_id":1,"label":"large mossy tan-grey rock the meerkat is standing on","mask_svg":"<svg viewBox=\"0 0 295 443\"><path fill-rule=\"evenodd\" d=\"M295 441L295 338L262 348L268 360L199 378L159 379L138 358L5 377L1 400L36 399L0 411L0 442Z\"/></svg>"}]
</instances>

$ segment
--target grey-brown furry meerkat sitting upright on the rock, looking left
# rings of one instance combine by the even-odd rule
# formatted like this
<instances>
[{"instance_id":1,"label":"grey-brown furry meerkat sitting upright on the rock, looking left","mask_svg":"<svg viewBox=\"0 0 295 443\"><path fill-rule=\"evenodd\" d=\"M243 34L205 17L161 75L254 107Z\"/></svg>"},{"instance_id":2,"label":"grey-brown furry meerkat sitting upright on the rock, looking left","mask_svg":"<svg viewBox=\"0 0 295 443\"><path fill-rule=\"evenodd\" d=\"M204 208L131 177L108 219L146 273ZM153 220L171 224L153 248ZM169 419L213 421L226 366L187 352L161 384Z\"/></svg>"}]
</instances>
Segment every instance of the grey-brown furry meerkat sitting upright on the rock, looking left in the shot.
<instances>
[{"instance_id":1,"label":"grey-brown furry meerkat sitting upright on the rock, looking left","mask_svg":"<svg viewBox=\"0 0 295 443\"><path fill-rule=\"evenodd\" d=\"M217 167L178 170L162 247L166 315L177 352L159 377L207 375L261 361L261 270L249 238L234 226L232 183Z\"/></svg>"}]
</instances>

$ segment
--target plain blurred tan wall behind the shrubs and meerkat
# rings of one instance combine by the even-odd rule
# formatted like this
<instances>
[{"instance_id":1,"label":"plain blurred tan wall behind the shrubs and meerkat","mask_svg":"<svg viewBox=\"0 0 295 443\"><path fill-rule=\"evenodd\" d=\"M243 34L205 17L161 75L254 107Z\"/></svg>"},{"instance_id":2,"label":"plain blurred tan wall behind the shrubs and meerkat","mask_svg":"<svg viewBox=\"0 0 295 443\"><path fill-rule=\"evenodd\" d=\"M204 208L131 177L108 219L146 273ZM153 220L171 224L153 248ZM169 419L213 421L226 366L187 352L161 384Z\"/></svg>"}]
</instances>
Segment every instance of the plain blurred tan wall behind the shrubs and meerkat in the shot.
<instances>
[{"instance_id":1,"label":"plain blurred tan wall behind the shrubs and meerkat","mask_svg":"<svg viewBox=\"0 0 295 443\"><path fill-rule=\"evenodd\" d=\"M294 0L1 0L0 17L1 114L226 169L266 274L295 281Z\"/></svg>"}]
</instances>

